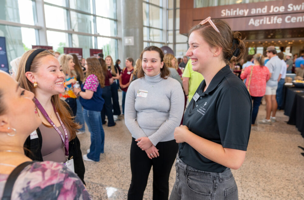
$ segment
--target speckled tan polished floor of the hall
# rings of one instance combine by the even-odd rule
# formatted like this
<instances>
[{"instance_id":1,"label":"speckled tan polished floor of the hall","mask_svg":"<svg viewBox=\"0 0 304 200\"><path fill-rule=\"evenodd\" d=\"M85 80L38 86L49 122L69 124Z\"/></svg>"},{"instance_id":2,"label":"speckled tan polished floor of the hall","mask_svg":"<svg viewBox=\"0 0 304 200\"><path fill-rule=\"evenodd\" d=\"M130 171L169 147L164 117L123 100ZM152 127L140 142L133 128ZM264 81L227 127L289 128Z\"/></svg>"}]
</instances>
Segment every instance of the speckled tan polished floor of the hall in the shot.
<instances>
[{"instance_id":1,"label":"speckled tan polished floor of the hall","mask_svg":"<svg viewBox=\"0 0 304 200\"><path fill-rule=\"evenodd\" d=\"M121 92L120 92L121 93ZM121 96L120 96L121 99ZM261 105L257 120L265 117ZM277 122L251 129L246 158L238 170L232 170L238 186L239 199L304 199L304 138L293 125L287 125L288 117L277 112ZM131 181L130 144L131 134L124 120L116 126L103 126L105 153L99 162L85 161L85 181L93 199L126 199ZM87 127L86 127L87 130ZM90 133L78 135L81 150L90 145ZM152 170L151 170L152 171ZM144 199L152 199L152 172ZM172 167L169 188L175 181Z\"/></svg>"}]
</instances>

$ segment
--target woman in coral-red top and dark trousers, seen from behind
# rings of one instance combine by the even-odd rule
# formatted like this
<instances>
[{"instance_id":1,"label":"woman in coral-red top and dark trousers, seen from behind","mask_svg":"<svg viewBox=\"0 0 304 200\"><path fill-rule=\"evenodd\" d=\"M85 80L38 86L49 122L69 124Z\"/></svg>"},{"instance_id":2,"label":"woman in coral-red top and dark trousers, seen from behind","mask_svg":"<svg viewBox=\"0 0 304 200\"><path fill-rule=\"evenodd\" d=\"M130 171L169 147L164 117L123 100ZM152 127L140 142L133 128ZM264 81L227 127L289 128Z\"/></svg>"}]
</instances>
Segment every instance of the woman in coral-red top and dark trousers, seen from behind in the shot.
<instances>
[{"instance_id":1,"label":"woman in coral-red top and dark trousers, seen from behind","mask_svg":"<svg viewBox=\"0 0 304 200\"><path fill-rule=\"evenodd\" d=\"M262 97L266 92L266 82L270 78L270 72L267 67L264 66L264 56L262 54L255 54L254 65L242 69L241 79L246 78L246 86L248 88L251 99L253 100L253 109L252 109L252 121L251 124L254 125L255 119L257 118L257 112L259 106L261 105ZM252 74L251 74L252 70ZM250 78L251 74L251 78Z\"/></svg>"}]
</instances>

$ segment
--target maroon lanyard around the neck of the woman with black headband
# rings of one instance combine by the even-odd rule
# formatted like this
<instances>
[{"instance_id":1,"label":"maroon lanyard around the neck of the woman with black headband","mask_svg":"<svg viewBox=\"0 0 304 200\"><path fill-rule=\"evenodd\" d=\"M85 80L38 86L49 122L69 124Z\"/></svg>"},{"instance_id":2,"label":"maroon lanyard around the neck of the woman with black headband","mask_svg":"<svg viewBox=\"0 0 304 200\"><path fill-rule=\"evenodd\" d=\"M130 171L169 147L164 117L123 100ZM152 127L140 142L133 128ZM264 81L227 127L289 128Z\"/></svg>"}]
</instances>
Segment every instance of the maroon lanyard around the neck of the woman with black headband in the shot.
<instances>
[{"instance_id":1,"label":"maroon lanyard around the neck of the woman with black headband","mask_svg":"<svg viewBox=\"0 0 304 200\"><path fill-rule=\"evenodd\" d=\"M58 112L56 111L56 108L52 102L52 106L54 108L54 111L56 112L57 116L58 116L58 119L60 121L60 124L64 130L64 134L65 134L65 139L61 133L61 131L57 128L57 126L53 123L53 121L50 119L49 115L47 115L47 112L44 110L44 108L42 107L42 105L40 104L40 102L38 101L38 99L34 98L34 102L36 104L36 106L39 108L40 112L43 114L43 116L45 118L47 118L47 121L55 128L55 130L58 132L58 134L60 135L61 139L62 139L62 142L64 144L64 149L65 149L65 157L66 157L66 160L68 160L68 157L69 157L69 138L68 138L68 135L67 135L67 130L65 129L64 127L64 124L62 123L61 121L61 118L58 114Z\"/></svg>"}]
</instances>

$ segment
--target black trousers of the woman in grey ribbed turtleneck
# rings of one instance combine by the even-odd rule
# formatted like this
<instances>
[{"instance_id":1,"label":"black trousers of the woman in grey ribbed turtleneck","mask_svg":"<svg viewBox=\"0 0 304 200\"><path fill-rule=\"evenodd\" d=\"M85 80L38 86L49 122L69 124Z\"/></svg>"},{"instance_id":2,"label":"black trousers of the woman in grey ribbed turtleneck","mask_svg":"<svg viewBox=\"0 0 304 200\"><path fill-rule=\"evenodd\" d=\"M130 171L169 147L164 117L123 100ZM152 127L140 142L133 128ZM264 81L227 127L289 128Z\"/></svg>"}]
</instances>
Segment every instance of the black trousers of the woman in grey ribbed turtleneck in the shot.
<instances>
[{"instance_id":1,"label":"black trousers of the woman in grey ribbed turtleneck","mask_svg":"<svg viewBox=\"0 0 304 200\"><path fill-rule=\"evenodd\" d=\"M158 142L156 148L159 150L159 157L152 158L152 160L136 144L135 138L132 138L130 151L132 180L128 191L128 200L143 199L143 192L147 186L152 166L153 199L168 200L169 175L178 152L178 144L175 140Z\"/></svg>"}]
</instances>

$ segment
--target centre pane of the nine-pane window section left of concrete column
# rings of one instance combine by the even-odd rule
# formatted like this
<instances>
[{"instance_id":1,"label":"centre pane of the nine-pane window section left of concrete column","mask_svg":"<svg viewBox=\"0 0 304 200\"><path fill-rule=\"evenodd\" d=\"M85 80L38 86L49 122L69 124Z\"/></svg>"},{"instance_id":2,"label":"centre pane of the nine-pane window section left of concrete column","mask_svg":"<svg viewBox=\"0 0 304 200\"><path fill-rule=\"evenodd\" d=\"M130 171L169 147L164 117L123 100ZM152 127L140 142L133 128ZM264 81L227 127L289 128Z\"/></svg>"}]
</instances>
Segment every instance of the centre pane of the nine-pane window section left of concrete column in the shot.
<instances>
[{"instance_id":1,"label":"centre pane of the nine-pane window section left of concrete column","mask_svg":"<svg viewBox=\"0 0 304 200\"><path fill-rule=\"evenodd\" d=\"M94 34L93 16L71 11L71 28L76 32Z\"/></svg>"}]
</instances>

